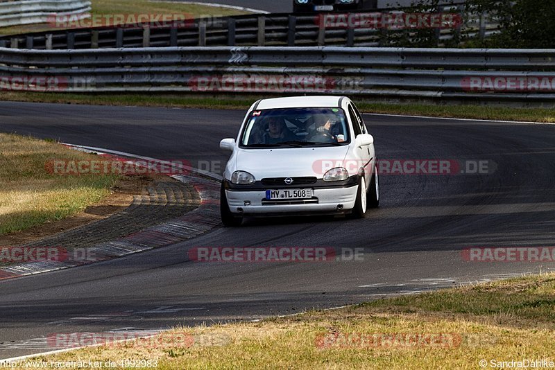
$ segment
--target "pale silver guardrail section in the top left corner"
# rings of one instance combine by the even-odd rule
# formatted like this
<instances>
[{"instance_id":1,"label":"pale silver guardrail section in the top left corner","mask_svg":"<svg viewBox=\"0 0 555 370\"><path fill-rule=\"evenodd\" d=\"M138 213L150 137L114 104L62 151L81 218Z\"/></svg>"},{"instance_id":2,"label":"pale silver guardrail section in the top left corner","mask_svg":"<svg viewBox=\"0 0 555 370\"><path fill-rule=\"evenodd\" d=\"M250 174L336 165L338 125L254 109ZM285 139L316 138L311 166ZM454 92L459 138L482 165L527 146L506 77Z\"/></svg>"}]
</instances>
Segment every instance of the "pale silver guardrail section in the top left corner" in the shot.
<instances>
[{"instance_id":1,"label":"pale silver guardrail section in the top left corner","mask_svg":"<svg viewBox=\"0 0 555 370\"><path fill-rule=\"evenodd\" d=\"M89 0L0 1L0 27L45 23L54 14L74 15L90 10Z\"/></svg>"}]
</instances>

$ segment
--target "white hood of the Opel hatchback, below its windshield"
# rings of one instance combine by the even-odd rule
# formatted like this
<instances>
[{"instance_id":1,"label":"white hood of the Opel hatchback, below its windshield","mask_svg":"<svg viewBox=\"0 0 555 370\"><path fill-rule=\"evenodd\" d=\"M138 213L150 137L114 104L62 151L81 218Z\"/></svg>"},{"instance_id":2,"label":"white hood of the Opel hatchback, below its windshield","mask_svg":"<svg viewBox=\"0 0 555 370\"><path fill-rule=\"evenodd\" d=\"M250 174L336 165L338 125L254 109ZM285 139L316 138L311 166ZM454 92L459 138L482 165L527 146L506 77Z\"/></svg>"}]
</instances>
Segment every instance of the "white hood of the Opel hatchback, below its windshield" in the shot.
<instances>
[{"instance_id":1,"label":"white hood of the Opel hatchback, below its windshield","mask_svg":"<svg viewBox=\"0 0 555 370\"><path fill-rule=\"evenodd\" d=\"M323 177L325 171L341 166L349 146L323 148L239 149L235 170L244 170L255 179L265 177Z\"/></svg>"}]
</instances>

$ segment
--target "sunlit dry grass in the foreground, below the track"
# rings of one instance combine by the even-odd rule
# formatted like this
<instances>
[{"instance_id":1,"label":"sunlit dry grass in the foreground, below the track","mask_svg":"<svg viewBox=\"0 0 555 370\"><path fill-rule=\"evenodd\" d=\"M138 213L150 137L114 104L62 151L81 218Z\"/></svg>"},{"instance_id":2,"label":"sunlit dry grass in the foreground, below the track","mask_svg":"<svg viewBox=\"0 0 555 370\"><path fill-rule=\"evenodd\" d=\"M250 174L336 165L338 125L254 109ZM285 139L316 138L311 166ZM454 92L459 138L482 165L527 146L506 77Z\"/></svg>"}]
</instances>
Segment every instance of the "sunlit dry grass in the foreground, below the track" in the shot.
<instances>
[{"instance_id":1,"label":"sunlit dry grass in the foreground, below the track","mask_svg":"<svg viewBox=\"0 0 555 370\"><path fill-rule=\"evenodd\" d=\"M554 353L555 274L544 274L256 323L176 328L35 360L155 360L159 370L479 369L480 360L488 368L555 362Z\"/></svg>"}]
</instances>

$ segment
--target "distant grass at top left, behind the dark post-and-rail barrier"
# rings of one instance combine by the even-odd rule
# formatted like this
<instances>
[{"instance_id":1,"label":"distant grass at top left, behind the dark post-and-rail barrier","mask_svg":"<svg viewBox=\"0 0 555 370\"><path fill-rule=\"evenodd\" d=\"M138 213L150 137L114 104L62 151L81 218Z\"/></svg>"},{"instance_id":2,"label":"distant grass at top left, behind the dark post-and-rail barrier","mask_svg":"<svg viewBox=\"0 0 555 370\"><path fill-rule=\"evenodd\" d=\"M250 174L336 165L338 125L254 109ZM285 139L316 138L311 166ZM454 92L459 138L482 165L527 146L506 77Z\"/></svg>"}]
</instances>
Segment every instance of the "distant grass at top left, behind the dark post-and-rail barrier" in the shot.
<instances>
[{"instance_id":1,"label":"distant grass at top left, behind the dark post-and-rail barrier","mask_svg":"<svg viewBox=\"0 0 555 370\"><path fill-rule=\"evenodd\" d=\"M219 8L198 4L179 3L176 1L149 1L149 0L92 0L91 15L114 14L187 14L198 18L201 15L214 15L225 17L228 15L246 14L242 10ZM22 26L0 27L0 35L18 35L20 33L42 32L46 30L60 30L49 24L26 24Z\"/></svg>"}]
</instances>

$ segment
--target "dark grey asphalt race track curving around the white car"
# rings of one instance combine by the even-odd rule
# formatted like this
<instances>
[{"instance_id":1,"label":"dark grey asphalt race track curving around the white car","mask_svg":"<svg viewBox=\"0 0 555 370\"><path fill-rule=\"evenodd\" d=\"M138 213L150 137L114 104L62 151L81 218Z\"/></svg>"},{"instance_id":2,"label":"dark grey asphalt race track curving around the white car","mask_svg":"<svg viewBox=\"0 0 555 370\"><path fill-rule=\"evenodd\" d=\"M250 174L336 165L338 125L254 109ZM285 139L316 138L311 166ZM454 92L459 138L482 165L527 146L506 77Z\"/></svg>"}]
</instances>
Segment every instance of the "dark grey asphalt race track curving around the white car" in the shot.
<instances>
[{"instance_id":1,"label":"dark grey asphalt race track curving around the white car","mask_svg":"<svg viewBox=\"0 0 555 370\"><path fill-rule=\"evenodd\" d=\"M0 103L0 131L193 164L225 161L243 111ZM555 125L365 115L382 159L485 160L495 171L382 175L364 220L246 220L187 243L0 281L0 358L48 351L51 333L167 328L287 315L555 270L464 261L467 247L552 246ZM199 162L202 161L202 162ZM495 164L495 166L493 166ZM364 248L364 261L194 263L197 246Z\"/></svg>"}]
</instances>

